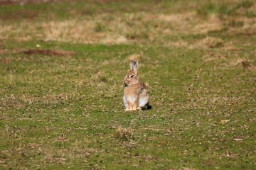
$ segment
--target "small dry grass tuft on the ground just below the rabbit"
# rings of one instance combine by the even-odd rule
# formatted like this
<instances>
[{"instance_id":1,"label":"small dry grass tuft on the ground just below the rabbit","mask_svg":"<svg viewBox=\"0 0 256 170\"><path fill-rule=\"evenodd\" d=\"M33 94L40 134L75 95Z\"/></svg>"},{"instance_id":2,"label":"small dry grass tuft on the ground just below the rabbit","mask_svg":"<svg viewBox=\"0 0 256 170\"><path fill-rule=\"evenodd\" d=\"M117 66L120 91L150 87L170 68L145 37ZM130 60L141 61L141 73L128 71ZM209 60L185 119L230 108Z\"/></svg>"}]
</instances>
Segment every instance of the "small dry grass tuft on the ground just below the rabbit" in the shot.
<instances>
[{"instance_id":1,"label":"small dry grass tuft on the ground just below the rabbit","mask_svg":"<svg viewBox=\"0 0 256 170\"><path fill-rule=\"evenodd\" d=\"M119 127L114 133L114 137L121 141L131 141L134 139L134 130L132 128Z\"/></svg>"}]
</instances>

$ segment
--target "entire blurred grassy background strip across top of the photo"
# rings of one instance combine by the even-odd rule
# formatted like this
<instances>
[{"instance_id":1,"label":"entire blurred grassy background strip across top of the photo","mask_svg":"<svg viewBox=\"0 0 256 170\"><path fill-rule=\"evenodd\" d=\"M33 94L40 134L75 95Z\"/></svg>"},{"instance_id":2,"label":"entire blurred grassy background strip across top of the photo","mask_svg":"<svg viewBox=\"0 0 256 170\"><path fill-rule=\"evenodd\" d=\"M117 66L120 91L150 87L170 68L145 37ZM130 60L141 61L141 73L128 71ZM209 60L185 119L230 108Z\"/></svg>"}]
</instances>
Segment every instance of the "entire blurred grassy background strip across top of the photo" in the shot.
<instances>
[{"instance_id":1,"label":"entire blurred grassy background strip across top of the photo","mask_svg":"<svg viewBox=\"0 0 256 170\"><path fill-rule=\"evenodd\" d=\"M232 48L233 35L256 30L250 0L1 0L0 6L1 39Z\"/></svg>"}]
</instances>

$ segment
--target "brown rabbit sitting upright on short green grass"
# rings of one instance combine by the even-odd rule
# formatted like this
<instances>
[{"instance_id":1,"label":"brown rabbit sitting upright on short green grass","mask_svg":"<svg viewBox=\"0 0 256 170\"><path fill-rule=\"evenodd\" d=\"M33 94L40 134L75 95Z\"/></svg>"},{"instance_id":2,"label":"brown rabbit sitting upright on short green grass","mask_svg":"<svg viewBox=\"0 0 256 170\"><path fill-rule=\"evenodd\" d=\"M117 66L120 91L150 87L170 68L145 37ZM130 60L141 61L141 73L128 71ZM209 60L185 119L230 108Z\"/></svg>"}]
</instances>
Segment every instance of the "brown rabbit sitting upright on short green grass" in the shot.
<instances>
[{"instance_id":1,"label":"brown rabbit sitting upright on short green grass","mask_svg":"<svg viewBox=\"0 0 256 170\"><path fill-rule=\"evenodd\" d=\"M147 86L139 81L139 62L131 60L130 70L124 77L124 106L125 111L140 111L148 109L149 95Z\"/></svg>"}]
</instances>

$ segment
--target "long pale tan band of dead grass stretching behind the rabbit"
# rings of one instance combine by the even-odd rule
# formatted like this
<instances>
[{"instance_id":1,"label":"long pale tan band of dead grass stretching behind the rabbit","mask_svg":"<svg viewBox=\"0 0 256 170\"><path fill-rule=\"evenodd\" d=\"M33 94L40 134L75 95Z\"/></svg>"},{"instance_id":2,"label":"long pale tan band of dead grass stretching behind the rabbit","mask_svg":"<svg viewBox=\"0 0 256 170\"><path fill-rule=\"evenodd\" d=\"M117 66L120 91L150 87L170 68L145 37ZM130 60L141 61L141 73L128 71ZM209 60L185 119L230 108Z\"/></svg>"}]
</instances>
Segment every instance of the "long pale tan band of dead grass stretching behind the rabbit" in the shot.
<instances>
[{"instance_id":1,"label":"long pale tan band of dead grass stretching behind the rabbit","mask_svg":"<svg viewBox=\"0 0 256 170\"><path fill-rule=\"evenodd\" d=\"M0 38L16 40L57 40L83 42L87 44L126 44L134 42L159 42L162 38L176 33L193 33L198 18L196 13L152 14L123 13L110 18L109 13L83 20L65 21L23 21L23 23L1 24ZM95 29L97 24L100 28ZM106 29L105 29L106 28Z\"/></svg>"}]
</instances>

